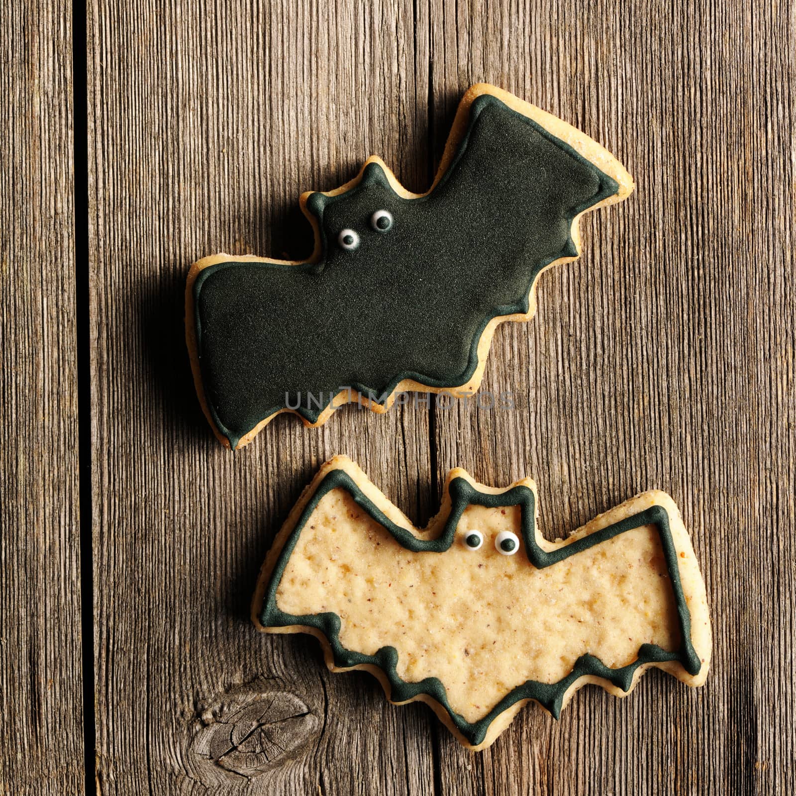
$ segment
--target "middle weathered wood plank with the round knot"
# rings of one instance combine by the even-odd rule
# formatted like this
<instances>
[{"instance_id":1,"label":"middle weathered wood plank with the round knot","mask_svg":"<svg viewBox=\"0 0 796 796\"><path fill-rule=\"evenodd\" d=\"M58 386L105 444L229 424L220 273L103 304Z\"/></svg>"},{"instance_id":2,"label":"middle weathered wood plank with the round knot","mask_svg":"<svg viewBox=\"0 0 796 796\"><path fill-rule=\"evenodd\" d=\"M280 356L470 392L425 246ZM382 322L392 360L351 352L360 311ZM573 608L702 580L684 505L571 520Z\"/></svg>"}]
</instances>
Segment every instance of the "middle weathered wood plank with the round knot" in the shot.
<instances>
[{"instance_id":1,"label":"middle weathered wood plank with the round knot","mask_svg":"<svg viewBox=\"0 0 796 796\"><path fill-rule=\"evenodd\" d=\"M103 794L431 790L427 709L331 677L317 642L248 618L279 523L331 455L427 515L427 415L349 407L310 431L283 416L232 455L199 411L182 326L193 260L310 252L302 190L373 152L424 185L426 20L392 2L89 4ZM283 743L275 693L295 711Z\"/></svg>"}]
</instances>

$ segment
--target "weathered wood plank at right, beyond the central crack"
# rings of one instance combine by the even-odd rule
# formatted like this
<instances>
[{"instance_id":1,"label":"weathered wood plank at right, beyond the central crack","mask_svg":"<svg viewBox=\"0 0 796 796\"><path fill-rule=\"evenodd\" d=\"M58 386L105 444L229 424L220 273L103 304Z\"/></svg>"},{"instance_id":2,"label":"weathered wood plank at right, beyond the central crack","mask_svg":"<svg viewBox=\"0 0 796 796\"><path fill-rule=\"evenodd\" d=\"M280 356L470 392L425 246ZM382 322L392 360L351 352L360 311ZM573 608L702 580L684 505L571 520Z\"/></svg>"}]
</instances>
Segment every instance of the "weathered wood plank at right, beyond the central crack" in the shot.
<instances>
[{"instance_id":1,"label":"weathered wood plank at right, beyond the central crack","mask_svg":"<svg viewBox=\"0 0 796 796\"><path fill-rule=\"evenodd\" d=\"M785 6L540 2L431 14L433 142L474 80L576 124L638 190L583 219L583 256L496 335L483 389L437 412L438 482L530 474L558 536L642 490L681 505L716 634L699 691L526 708L473 759L439 732L451 794L794 789L792 20ZM791 15L792 16L792 15ZM440 98L439 100L437 98Z\"/></svg>"}]
</instances>

